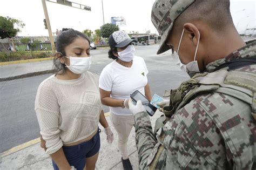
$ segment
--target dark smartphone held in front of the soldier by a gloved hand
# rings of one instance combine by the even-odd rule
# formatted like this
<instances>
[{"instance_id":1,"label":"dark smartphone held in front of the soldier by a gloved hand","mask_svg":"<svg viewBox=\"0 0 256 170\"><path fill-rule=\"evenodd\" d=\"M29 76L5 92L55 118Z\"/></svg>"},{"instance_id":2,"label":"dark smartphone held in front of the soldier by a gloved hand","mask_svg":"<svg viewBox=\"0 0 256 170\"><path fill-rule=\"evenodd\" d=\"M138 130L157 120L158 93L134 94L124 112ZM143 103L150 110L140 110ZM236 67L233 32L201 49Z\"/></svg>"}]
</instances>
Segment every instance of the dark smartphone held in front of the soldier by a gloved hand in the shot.
<instances>
[{"instance_id":1,"label":"dark smartphone held in front of the soldier by a gloved hand","mask_svg":"<svg viewBox=\"0 0 256 170\"><path fill-rule=\"evenodd\" d=\"M157 107L151 105L150 101L138 90L131 94L131 99L134 101L134 103L137 103L138 100L141 100L142 105L146 108L147 113L149 113L151 116L154 115L154 113L157 111Z\"/></svg>"}]
</instances>

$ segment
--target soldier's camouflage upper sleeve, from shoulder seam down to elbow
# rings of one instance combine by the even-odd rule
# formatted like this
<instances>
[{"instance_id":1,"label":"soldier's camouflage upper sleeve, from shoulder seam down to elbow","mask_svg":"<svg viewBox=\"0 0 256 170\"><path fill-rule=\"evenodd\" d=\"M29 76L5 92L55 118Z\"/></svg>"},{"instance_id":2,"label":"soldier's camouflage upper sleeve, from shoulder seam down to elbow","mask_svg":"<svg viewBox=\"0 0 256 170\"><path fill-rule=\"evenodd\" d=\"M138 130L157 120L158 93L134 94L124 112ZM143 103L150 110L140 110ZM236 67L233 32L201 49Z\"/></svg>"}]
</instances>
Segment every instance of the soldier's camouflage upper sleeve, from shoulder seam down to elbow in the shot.
<instances>
[{"instance_id":1,"label":"soldier's camouflage upper sleeve, from shoulder seam down to elbow","mask_svg":"<svg viewBox=\"0 0 256 170\"><path fill-rule=\"evenodd\" d=\"M199 96L181 108L163 128L176 124L166 157L173 169L225 169L225 142L210 112L219 94ZM168 169L168 168L167 168Z\"/></svg>"}]
</instances>

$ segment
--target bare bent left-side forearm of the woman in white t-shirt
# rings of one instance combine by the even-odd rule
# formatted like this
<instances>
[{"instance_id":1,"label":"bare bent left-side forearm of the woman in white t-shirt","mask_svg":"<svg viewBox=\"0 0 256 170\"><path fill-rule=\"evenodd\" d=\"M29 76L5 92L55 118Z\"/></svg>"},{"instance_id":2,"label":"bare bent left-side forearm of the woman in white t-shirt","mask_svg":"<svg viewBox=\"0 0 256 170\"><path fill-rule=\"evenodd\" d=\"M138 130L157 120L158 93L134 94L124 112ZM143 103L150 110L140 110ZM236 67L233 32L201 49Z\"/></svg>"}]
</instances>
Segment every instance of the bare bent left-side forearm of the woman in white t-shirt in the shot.
<instances>
[{"instance_id":1,"label":"bare bent left-side forearm of the woman in white t-shirt","mask_svg":"<svg viewBox=\"0 0 256 170\"><path fill-rule=\"evenodd\" d=\"M110 97L111 91L109 92L99 88L99 93L100 93L100 100L102 101L103 105L110 106L110 107L122 107L124 99L120 100L120 99L111 98Z\"/></svg>"}]
</instances>

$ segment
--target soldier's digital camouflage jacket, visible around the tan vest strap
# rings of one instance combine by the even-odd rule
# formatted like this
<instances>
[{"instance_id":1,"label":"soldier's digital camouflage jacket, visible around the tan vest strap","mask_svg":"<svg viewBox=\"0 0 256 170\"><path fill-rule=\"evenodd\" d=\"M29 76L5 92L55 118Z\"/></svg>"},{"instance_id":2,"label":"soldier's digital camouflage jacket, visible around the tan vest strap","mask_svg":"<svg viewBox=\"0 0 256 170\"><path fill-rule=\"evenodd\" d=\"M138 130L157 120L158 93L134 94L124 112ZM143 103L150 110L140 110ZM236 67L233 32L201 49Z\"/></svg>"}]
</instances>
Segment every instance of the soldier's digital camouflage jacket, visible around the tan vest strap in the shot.
<instances>
[{"instance_id":1,"label":"soldier's digital camouflage jacket, visible around the tan vest strap","mask_svg":"<svg viewBox=\"0 0 256 170\"><path fill-rule=\"evenodd\" d=\"M242 57L256 57L256 41L207 65L207 72ZM256 65L240 69L256 73ZM256 81L255 81L256 86ZM256 125L252 108L222 93L200 94L152 132L146 112L134 116L139 169L252 169Z\"/></svg>"}]
</instances>

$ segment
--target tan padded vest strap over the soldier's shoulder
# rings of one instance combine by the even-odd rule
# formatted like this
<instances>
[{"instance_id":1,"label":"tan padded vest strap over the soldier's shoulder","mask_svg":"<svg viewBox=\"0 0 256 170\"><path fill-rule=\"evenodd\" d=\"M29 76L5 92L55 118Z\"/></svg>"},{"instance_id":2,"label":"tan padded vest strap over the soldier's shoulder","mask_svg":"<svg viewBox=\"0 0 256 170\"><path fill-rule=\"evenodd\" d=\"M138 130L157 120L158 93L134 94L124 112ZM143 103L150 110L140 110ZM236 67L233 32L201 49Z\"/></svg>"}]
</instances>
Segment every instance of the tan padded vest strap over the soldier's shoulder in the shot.
<instances>
[{"instance_id":1,"label":"tan padded vest strap over the soldier's shoulder","mask_svg":"<svg viewBox=\"0 0 256 170\"><path fill-rule=\"evenodd\" d=\"M252 115L256 120L256 73L243 71L219 70L204 77L195 78L199 86L190 90L177 109L189 103L200 93L217 92L227 94L251 105Z\"/></svg>"}]
</instances>

